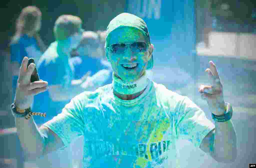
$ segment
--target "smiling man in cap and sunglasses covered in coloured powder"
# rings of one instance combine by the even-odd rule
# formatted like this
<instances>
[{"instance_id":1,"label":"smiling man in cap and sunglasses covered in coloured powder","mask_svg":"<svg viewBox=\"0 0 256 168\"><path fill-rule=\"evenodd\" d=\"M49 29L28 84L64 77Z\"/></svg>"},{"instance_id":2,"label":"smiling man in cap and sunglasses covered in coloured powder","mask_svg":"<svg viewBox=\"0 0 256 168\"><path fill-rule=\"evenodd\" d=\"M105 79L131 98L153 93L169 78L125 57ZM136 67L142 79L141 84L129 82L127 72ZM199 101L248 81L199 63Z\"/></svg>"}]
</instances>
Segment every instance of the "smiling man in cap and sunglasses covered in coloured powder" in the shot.
<instances>
[{"instance_id":1,"label":"smiling man in cap and sunglasses covered in coloured powder","mask_svg":"<svg viewBox=\"0 0 256 168\"><path fill-rule=\"evenodd\" d=\"M39 129L33 117L23 117L33 95L44 92L47 82L29 82L34 65L26 69L24 58L12 111L28 156L67 147L84 136L83 167L180 167L176 150L179 139L189 140L219 162L234 161L232 108L223 99L213 62L206 70L212 86L201 86L199 92L207 100L215 124L188 97L147 79L146 69L153 67L154 46L141 18L120 14L110 22L106 34L112 84L74 97L61 114Z\"/></svg>"}]
</instances>

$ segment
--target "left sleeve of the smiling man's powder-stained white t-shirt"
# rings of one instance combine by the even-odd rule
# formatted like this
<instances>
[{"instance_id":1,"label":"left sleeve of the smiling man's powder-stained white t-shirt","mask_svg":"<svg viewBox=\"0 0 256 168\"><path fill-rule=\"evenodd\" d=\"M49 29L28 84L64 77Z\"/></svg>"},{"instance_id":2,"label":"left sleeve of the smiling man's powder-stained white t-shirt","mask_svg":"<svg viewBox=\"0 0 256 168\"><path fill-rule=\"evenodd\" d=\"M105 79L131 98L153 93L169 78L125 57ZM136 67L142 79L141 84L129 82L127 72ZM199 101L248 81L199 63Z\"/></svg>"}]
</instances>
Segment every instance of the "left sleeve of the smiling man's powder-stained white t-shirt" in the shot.
<instances>
[{"instance_id":1,"label":"left sleeve of the smiling man's powder-stained white t-shirt","mask_svg":"<svg viewBox=\"0 0 256 168\"><path fill-rule=\"evenodd\" d=\"M56 133L67 147L73 140L84 135L84 115L81 101L74 97L60 114L43 124Z\"/></svg>"}]
</instances>

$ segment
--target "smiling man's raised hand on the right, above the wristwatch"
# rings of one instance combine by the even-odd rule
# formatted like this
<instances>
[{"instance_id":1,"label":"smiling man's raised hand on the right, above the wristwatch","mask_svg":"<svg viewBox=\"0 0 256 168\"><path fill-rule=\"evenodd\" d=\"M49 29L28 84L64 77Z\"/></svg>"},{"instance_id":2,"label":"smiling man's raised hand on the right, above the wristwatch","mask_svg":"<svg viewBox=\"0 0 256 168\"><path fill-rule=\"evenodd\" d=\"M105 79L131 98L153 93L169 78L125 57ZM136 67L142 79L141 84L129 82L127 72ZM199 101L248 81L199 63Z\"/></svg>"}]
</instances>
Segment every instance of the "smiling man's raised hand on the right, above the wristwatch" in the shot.
<instances>
[{"instance_id":1,"label":"smiling man's raised hand on the right, above the wristwatch","mask_svg":"<svg viewBox=\"0 0 256 168\"><path fill-rule=\"evenodd\" d=\"M223 85L216 65L209 61L210 68L205 71L208 73L211 86L201 85L199 92L203 99L207 100L211 112L215 115L223 115L226 111L225 100L223 98Z\"/></svg>"}]
</instances>

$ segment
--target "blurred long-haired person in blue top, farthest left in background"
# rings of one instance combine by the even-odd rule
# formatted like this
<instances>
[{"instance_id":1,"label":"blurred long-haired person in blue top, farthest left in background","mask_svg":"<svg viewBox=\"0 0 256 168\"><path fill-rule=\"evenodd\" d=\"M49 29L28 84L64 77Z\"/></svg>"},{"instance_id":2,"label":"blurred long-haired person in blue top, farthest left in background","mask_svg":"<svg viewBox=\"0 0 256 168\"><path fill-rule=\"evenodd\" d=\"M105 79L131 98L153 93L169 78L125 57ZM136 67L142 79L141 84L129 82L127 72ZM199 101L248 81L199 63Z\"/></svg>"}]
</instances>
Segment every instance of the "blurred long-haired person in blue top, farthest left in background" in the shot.
<instances>
[{"instance_id":1,"label":"blurred long-haired person in blue top, farthest left in background","mask_svg":"<svg viewBox=\"0 0 256 168\"><path fill-rule=\"evenodd\" d=\"M27 6L22 9L16 20L16 32L9 44L13 70L13 100L22 59L33 57L37 63L46 50L38 33L41 28L41 18L40 9L36 6Z\"/></svg>"}]
</instances>

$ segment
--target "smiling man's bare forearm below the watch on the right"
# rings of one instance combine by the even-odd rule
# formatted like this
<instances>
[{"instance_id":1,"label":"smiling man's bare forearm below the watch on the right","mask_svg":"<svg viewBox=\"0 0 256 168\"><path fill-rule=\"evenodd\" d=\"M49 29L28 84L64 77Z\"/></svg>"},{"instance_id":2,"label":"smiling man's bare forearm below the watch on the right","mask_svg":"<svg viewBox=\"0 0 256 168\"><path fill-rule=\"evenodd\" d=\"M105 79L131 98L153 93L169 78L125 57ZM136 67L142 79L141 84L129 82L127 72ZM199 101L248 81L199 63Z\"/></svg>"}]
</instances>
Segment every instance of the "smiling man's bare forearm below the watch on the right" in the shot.
<instances>
[{"instance_id":1,"label":"smiling man's bare forearm below the watch on the right","mask_svg":"<svg viewBox=\"0 0 256 168\"><path fill-rule=\"evenodd\" d=\"M214 158L232 162L237 157L237 137L231 120L215 122Z\"/></svg>"}]
</instances>

